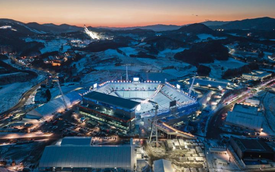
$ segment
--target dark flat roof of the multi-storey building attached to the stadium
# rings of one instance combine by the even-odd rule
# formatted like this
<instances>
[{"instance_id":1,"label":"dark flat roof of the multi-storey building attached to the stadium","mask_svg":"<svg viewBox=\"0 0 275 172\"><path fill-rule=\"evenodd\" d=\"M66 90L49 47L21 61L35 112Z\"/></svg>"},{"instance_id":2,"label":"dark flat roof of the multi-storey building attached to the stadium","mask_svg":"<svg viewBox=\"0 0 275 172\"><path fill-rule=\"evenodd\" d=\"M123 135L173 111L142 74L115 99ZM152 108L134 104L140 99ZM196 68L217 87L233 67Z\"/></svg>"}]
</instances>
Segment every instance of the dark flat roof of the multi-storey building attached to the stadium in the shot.
<instances>
[{"instance_id":1,"label":"dark flat roof of the multi-storey building attached to the stadium","mask_svg":"<svg viewBox=\"0 0 275 172\"><path fill-rule=\"evenodd\" d=\"M116 97L113 95L108 95L104 93L99 93L97 91L93 91L84 95L84 97L88 99L93 99L102 103L110 104L113 106L117 106L120 108L132 109L140 104L140 102L135 102L133 100L124 99L121 97Z\"/></svg>"}]
</instances>

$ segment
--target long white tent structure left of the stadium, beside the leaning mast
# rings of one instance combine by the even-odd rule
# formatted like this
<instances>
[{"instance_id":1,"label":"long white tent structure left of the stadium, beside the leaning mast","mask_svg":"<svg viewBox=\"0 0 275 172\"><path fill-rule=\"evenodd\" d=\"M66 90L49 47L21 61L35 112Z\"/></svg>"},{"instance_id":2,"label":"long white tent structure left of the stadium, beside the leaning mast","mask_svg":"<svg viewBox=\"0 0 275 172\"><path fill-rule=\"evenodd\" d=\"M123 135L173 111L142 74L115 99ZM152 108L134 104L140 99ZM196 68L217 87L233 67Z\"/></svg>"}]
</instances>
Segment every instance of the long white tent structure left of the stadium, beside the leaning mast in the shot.
<instances>
[{"instance_id":1,"label":"long white tent structure left of the stadium, beside the leaning mast","mask_svg":"<svg viewBox=\"0 0 275 172\"><path fill-rule=\"evenodd\" d=\"M82 100L82 97L76 91L64 95L68 106L74 105ZM50 117L58 111L64 111L65 104L61 97L53 99L46 104L39 106L26 114L26 119L41 120L45 117Z\"/></svg>"}]
</instances>

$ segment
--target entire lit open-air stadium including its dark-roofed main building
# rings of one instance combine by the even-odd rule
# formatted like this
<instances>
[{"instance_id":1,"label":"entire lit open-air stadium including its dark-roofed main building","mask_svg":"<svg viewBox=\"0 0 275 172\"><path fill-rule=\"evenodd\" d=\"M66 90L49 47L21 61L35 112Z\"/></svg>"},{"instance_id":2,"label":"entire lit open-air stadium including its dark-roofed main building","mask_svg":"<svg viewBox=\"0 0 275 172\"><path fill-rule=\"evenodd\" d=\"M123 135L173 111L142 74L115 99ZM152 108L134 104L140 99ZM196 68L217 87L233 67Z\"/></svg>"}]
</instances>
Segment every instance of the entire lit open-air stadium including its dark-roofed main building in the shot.
<instances>
[{"instance_id":1,"label":"entire lit open-air stadium including its dark-roofed main building","mask_svg":"<svg viewBox=\"0 0 275 172\"><path fill-rule=\"evenodd\" d=\"M79 113L101 124L108 124L125 133L134 130L135 121L155 115L159 119L173 114L187 114L197 106L193 97L168 82L107 81L94 84L84 93Z\"/></svg>"}]
</instances>

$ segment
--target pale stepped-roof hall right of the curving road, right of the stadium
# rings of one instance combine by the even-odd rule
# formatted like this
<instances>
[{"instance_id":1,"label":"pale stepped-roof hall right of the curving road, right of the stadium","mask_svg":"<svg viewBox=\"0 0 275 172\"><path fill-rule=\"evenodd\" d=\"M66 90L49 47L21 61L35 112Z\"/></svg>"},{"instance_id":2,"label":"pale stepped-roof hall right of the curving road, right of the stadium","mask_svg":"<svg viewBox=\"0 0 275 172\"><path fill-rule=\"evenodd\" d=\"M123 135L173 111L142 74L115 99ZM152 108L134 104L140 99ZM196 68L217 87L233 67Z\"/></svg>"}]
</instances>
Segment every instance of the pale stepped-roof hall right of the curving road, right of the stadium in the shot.
<instances>
[{"instance_id":1,"label":"pale stepped-roof hall right of the curving road, right of the stadium","mask_svg":"<svg viewBox=\"0 0 275 172\"><path fill-rule=\"evenodd\" d=\"M233 111L229 111L225 124L240 126L250 130L262 131L263 113L256 106L236 104Z\"/></svg>"}]
</instances>

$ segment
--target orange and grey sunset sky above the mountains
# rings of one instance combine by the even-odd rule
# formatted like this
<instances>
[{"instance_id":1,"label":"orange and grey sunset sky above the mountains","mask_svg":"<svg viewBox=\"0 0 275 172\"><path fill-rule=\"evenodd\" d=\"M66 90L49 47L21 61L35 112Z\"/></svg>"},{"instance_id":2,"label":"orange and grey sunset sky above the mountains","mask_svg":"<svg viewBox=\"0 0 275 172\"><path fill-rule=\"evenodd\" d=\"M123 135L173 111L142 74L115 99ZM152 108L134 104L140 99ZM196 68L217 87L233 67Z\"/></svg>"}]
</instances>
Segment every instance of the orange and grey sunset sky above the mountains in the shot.
<instances>
[{"instance_id":1,"label":"orange and grey sunset sky above the mountains","mask_svg":"<svg viewBox=\"0 0 275 172\"><path fill-rule=\"evenodd\" d=\"M275 18L275 0L0 0L0 18L83 26L184 25Z\"/></svg>"}]
</instances>

